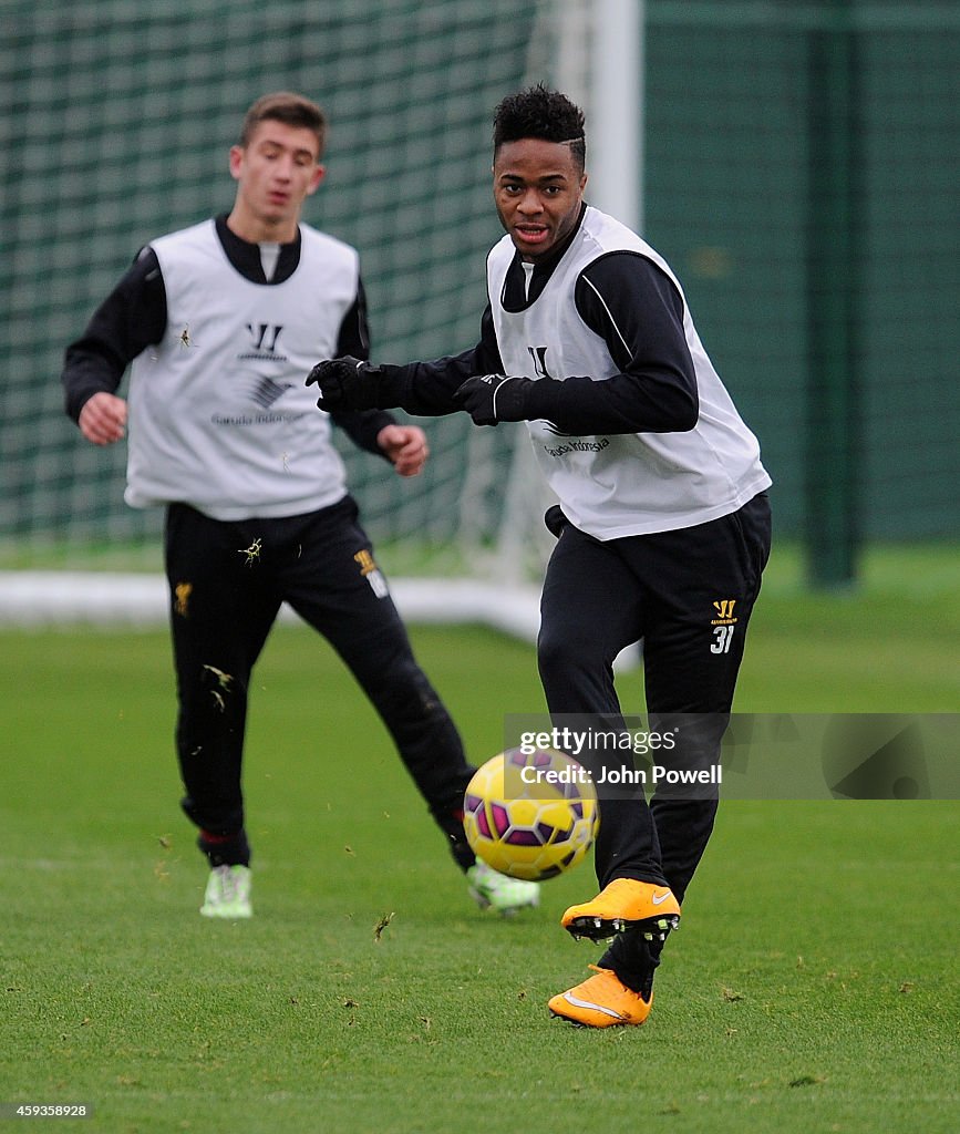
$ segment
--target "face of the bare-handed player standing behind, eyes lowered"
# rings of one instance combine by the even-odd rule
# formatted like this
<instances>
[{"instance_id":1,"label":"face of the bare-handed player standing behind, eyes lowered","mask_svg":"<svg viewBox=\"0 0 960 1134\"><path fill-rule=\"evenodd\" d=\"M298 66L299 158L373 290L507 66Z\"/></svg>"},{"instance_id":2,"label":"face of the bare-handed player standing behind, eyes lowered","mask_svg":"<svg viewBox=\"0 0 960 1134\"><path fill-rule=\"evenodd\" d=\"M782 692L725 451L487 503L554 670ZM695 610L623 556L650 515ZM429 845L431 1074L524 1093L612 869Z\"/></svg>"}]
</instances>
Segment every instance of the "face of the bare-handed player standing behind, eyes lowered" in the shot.
<instances>
[{"instance_id":1,"label":"face of the bare-handed player standing behind, eyes lowered","mask_svg":"<svg viewBox=\"0 0 960 1134\"><path fill-rule=\"evenodd\" d=\"M256 127L246 146L233 146L237 200L230 227L248 240L292 240L304 200L323 180L317 150L312 130L272 119Z\"/></svg>"}]
</instances>

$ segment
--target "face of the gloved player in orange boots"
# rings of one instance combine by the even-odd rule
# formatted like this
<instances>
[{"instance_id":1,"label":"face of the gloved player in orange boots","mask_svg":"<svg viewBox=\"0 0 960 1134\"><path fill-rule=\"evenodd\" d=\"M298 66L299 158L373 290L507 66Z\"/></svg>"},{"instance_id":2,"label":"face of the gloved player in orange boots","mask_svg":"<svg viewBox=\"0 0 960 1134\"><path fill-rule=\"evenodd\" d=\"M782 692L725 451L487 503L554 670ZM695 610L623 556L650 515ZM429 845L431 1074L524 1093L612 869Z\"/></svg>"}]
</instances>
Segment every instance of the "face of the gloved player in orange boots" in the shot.
<instances>
[{"instance_id":1,"label":"face of the gloved player in orange boots","mask_svg":"<svg viewBox=\"0 0 960 1134\"><path fill-rule=\"evenodd\" d=\"M586 174L562 142L506 142L493 159L493 200L521 260L535 262L570 234L580 214Z\"/></svg>"}]
</instances>

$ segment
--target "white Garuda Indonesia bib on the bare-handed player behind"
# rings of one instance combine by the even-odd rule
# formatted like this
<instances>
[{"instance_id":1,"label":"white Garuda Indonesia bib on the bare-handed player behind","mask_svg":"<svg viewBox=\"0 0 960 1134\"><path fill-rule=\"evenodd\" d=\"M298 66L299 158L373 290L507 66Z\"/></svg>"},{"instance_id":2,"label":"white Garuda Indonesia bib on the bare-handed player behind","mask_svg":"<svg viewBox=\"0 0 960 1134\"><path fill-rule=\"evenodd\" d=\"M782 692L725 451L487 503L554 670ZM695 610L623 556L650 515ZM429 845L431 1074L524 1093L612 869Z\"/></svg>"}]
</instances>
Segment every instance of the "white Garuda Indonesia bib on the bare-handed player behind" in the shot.
<instances>
[{"instance_id":1,"label":"white Garuda Indonesia bib on the bare-handed player behind","mask_svg":"<svg viewBox=\"0 0 960 1134\"><path fill-rule=\"evenodd\" d=\"M182 501L215 519L292 516L346 494L326 414L305 378L333 357L357 296L354 248L300 226L282 284L230 263L215 222L155 240L167 333L133 363L125 499Z\"/></svg>"}]
</instances>

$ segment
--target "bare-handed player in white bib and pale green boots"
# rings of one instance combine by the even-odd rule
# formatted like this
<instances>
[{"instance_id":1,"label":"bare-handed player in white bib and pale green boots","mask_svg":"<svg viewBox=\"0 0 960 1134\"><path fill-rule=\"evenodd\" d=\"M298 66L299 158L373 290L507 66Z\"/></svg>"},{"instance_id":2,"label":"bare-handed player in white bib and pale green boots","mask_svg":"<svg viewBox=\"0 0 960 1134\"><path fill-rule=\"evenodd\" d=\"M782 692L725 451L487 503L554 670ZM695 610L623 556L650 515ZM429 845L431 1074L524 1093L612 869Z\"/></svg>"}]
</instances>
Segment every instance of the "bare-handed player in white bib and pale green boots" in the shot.
<instances>
[{"instance_id":1,"label":"bare-handed player in white bib and pale green boots","mask_svg":"<svg viewBox=\"0 0 960 1134\"><path fill-rule=\"evenodd\" d=\"M201 913L252 914L244 734L250 675L282 602L369 697L473 897L512 913L536 905L537 887L475 862L466 843L474 769L410 649L331 428L401 476L423 468L425 434L382 411L317 416L303 382L320 356L368 350L357 252L300 222L325 136L323 111L299 94L249 108L230 150L232 209L141 251L67 349L66 409L94 445L129 430L126 500L165 509L182 806L210 864ZM318 759L342 760L330 746Z\"/></svg>"}]
</instances>

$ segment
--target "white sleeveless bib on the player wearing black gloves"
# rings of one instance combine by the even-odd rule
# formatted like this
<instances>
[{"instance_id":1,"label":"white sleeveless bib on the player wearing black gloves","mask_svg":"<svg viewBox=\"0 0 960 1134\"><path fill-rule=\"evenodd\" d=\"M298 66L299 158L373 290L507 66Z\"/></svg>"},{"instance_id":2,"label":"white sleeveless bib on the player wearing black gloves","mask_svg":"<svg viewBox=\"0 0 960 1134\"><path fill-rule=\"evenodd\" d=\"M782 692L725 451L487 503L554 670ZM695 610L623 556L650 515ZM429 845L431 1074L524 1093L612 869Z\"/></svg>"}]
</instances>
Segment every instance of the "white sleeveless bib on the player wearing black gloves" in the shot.
<instances>
[{"instance_id":1,"label":"white sleeveless bib on the player wearing black gloves","mask_svg":"<svg viewBox=\"0 0 960 1134\"><path fill-rule=\"evenodd\" d=\"M600 540L691 527L736 511L767 488L759 446L713 369L682 288L663 259L626 226L587 208L580 228L541 295L524 311L503 307L515 248L504 237L490 253L487 287L504 371L530 379L619 372L603 339L580 318L580 273L610 252L636 252L664 271L683 298L683 333L699 397L696 426L682 433L576 437L552 423L528 423L537 462L564 514Z\"/></svg>"}]
</instances>

